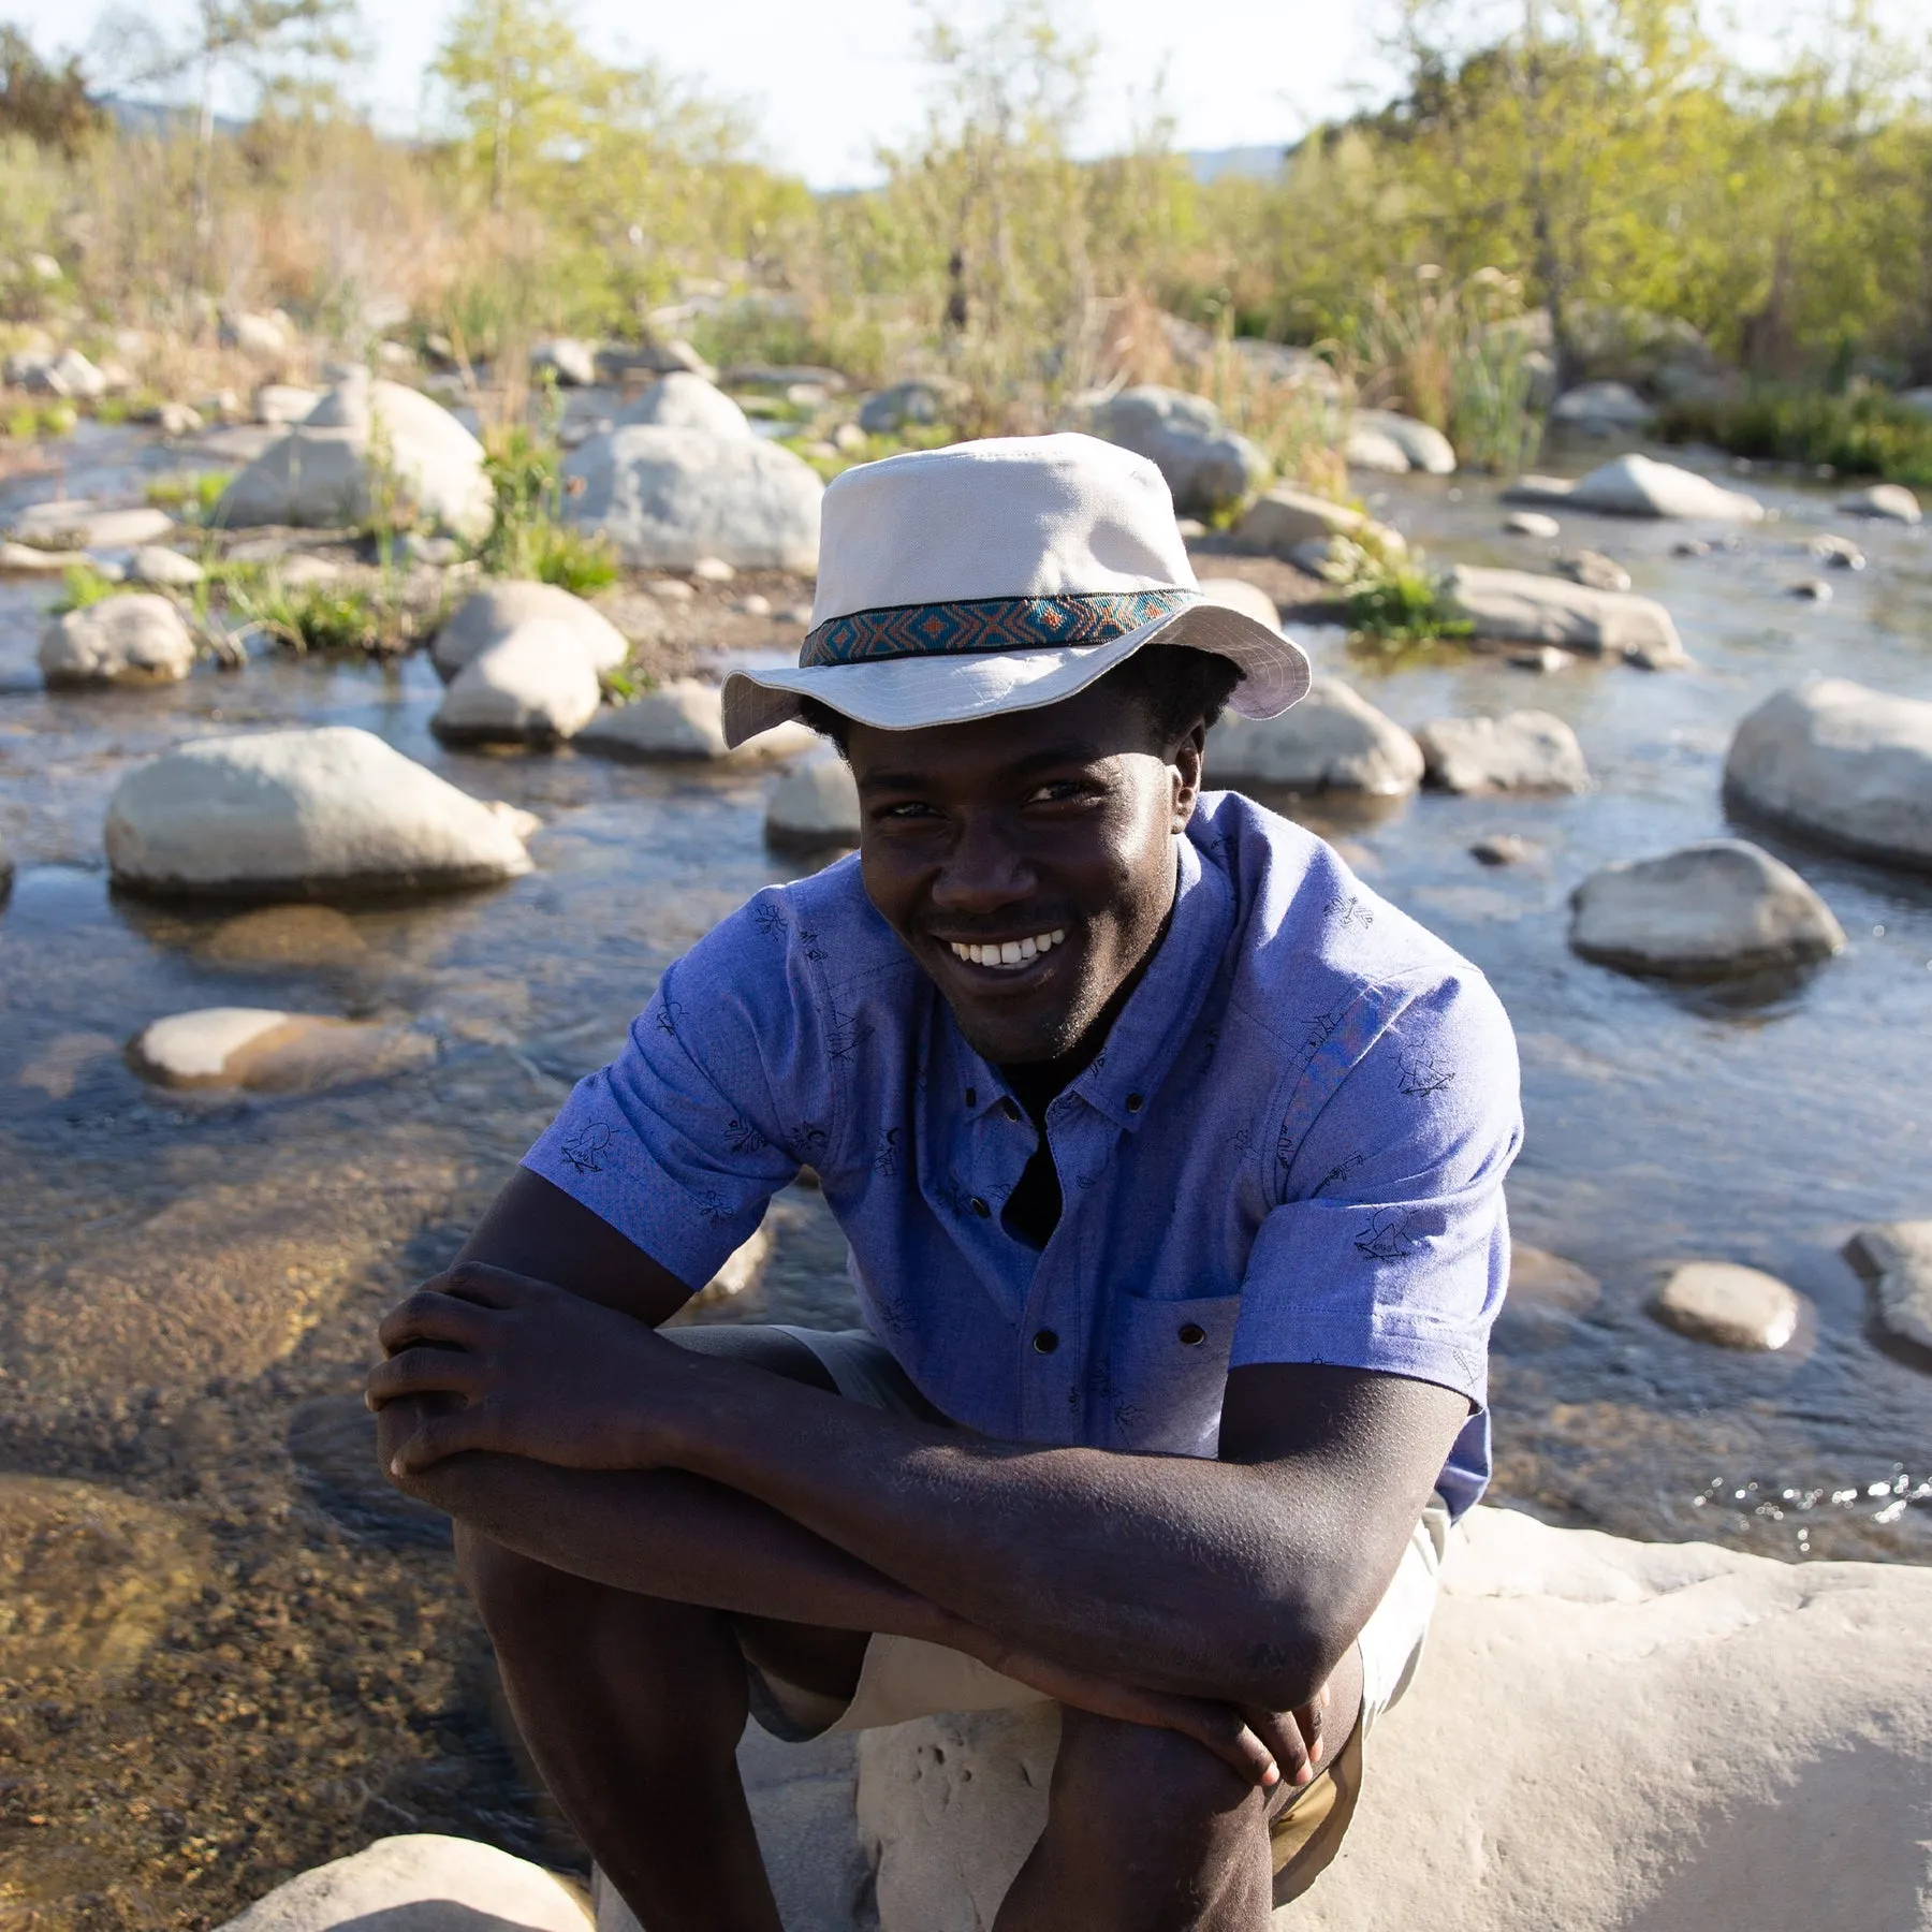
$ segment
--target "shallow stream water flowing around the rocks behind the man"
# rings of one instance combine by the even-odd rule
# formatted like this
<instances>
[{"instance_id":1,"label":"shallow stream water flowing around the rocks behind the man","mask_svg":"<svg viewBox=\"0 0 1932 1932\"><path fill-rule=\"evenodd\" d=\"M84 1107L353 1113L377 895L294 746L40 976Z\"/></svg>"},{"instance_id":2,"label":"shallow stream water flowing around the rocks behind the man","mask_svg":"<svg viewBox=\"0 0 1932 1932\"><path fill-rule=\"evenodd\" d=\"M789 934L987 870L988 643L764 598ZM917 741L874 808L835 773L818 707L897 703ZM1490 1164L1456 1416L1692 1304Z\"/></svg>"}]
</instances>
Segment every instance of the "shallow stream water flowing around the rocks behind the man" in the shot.
<instances>
[{"instance_id":1,"label":"shallow stream water flowing around the rocks behind the man","mask_svg":"<svg viewBox=\"0 0 1932 1932\"><path fill-rule=\"evenodd\" d=\"M151 462L104 437L70 489L133 495ZM1623 1534L1932 1561L1932 1364L1878 1341L1839 1254L1864 1221L1932 1213L1932 879L1750 831L1851 937L1781 987L1673 989L1565 945L1594 866L1737 829L1719 767L1762 696L1833 672L1932 697L1932 527L1847 524L1826 487L1745 485L1779 520L1700 558L1669 554L1681 526L1565 518L1565 543L1611 551L1671 607L1694 668L1385 667L1306 634L1406 724L1559 713L1596 790L1304 815L1495 981L1524 1063L1519 1238L1600 1283L1588 1308L1524 1300L1499 1325L1497 1495ZM1492 485L1370 495L1435 556L1546 562L1501 535ZM1830 574L1826 607L1787 595L1816 572L1797 545L1818 529L1870 554ZM50 696L33 668L46 597L0 583L0 838L19 866L0 906L0 1915L214 1922L396 1830L570 1862L493 1723L444 1534L373 1476L359 1370L375 1316L454 1250L663 966L800 862L763 844L761 777L442 748L421 657L263 657L166 692ZM253 912L108 887L100 821L129 763L319 723L539 813L535 871ZM1468 846L1492 833L1536 856L1482 867ZM129 1036L214 1005L408 1016L439 1059L309 1097L143 1086ZM819 1198L794 1188L773 1213L763 1283L701 1318L848 1320ZM1662 1327L1646 1304L1677 1260L1791 1281L1799 1339L1733 1354Z\"/></svg>"}]
</instances>

